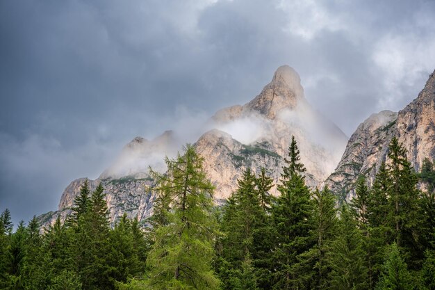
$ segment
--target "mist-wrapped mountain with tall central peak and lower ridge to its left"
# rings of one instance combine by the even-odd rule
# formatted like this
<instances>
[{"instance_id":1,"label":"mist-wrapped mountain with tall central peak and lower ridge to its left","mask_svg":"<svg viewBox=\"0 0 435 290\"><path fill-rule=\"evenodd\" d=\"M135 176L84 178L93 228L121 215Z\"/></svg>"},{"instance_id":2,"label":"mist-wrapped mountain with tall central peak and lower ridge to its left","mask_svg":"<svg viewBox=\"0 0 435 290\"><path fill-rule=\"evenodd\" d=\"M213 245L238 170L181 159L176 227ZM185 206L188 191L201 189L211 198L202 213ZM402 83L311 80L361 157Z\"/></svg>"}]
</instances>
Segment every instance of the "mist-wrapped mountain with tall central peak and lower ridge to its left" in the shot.
<instances>
[{"instance_id":1,"label":"mist-wrapped mountain with tall central peak and lower ridge to its left","mask_svg":"<svg viewBox=\"0 0 435 290\"><path fill-rule=\"evenodd\" d=\"M252 101L217 111L204 131L195 147L204 157L204 169L216 187L217 202L229 197L247 168L259 172L264 167L278 182L292 135L308 172L306 181L312 187L333 172L347 143L343 131L306 101L299 74L288 65L279 67ZM112 223L124 212L140 220L152 214L153 180L148 168L164 172L164 156L174 156L181 150L179 140L177 132L172 131L154 140L136 137L112 166L90 181L91 189L99 182L103 184ZM40 216L43 225L54 223L57 216L65 219L84 180L76 179L67 186L58 211ZM276 194L276 188L272 188L272 194Z\"/></svg>"}]
</instances>

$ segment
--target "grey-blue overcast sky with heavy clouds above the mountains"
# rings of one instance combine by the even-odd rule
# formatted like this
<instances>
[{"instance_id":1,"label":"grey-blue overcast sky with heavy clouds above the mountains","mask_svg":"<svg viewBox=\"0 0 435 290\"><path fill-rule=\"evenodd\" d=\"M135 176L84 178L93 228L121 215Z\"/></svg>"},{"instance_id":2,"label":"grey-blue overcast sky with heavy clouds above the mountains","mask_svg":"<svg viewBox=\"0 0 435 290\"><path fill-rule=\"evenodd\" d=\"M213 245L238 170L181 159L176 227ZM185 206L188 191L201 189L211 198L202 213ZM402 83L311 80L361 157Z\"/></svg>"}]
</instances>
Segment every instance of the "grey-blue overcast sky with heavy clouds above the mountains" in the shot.
<instances>
[{"instance_id":1,"label":"grey-blue overcast sky with heavy clouds above the mountains","mask_svg":"<svg viewBox=\"0 0 435 290\"><path fill-rule=\"evenodd\" d=\"M435 69L435 1L3 0L0 40L0 211L17 223L135 136L245 104L279 65L347 136L400 110Z\"/></svg>"}]
</instances>

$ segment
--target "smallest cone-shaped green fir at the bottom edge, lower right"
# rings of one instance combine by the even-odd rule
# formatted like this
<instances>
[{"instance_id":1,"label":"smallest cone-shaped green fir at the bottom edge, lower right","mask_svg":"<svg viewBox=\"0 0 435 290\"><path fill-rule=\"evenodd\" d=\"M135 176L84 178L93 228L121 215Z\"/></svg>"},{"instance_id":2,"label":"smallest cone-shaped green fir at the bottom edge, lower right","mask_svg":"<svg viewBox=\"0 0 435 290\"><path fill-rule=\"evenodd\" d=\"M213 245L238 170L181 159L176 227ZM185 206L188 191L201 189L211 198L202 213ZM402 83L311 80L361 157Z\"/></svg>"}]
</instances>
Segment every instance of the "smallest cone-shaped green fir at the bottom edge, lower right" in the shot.
<instances>
[{"instance_id":1,"label":"smallest cone-shaped green fir at the bottom edge, lower right","mask_svg":"<svg viewBox=\"0 0 435 290\"><path fill-rule=\"evenodd\" d=\"M407 269L407 264L400 255L399 247L393 243L388 248L386 260L381 272L381 277L376 287L377 290L411 290L413 280Z\"/></svg>"}]
</instances>

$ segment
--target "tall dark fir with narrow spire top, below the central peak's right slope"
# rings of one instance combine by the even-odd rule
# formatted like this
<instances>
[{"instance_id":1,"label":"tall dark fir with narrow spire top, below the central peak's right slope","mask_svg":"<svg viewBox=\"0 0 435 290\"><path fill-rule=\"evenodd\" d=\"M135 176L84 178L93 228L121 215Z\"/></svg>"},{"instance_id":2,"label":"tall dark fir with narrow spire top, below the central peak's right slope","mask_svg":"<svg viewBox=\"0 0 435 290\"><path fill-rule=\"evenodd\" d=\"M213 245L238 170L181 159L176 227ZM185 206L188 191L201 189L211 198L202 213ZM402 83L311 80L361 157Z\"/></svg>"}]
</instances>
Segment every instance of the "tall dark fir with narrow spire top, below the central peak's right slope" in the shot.
<instances>
[{"instance_id":1,"label":"tall dark fir with narrow spire top, below the central peak's right slope","mask_svg":"<svg viewBox=\"0 0 435 290\"><path fill-rule=\"evenodd\" d=\"M287 166L281 173L281 193L272 208L272 218L277 232L277 247L274 249L274 289L309 289L313 265L307 265L301 255L314 244L313 204L309 188L302 175L304 164L300 163L299 149L292 136L288 148Z\"/></svg>"}]
</instances>

